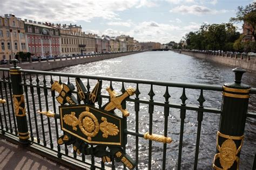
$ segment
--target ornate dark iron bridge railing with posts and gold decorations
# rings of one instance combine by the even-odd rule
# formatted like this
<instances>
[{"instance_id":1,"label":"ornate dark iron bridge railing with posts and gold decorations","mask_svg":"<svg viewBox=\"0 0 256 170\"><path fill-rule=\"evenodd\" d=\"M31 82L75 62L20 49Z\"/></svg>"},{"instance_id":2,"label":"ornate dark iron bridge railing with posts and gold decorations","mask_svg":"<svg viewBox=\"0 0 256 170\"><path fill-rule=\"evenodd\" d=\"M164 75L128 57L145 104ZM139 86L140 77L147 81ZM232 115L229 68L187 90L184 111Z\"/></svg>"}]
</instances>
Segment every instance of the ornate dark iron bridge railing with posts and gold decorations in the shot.
<instances>
[{"instance_id":1,"label":"ornate dark iron bridge railing with posts and gold decorations","mask_svg":"<svg viewBox=\"0 0 256 170\"><path fill-rule=\"evenodd\" d=\"M177 165L174 167L181 169L181 163L184 161L182 159L184 125L186 124L186 116L191 116L188 115L189 111L196 112L196 116L192 116L192 118L197 118L197 133L196 140L194 140L196 141L193 158L194 169L198 167L201 125L205 113L221 115L219 131L215 129L214 132L216 134L218 131L217 152L213 167L237 168L240 156L239 146L242 145L245 120L247 117L256 118L254 114L247 113L249 95L255 95L256 89L241 84L241 76L243 73L241 69L234 70L236 73L235 83L225 84L224 86L23 70L17 67L16 64L11 69L0 68L0 70L2 72L2 79L0 80L0 93L2 98L0 100L2 103L0 123L3 136L19 140L19 143L23 145L31 144L30 147L41 151L41 153L46 153L51 155L51 157L58 158L57 160L71 162L83 168L104 169L111 167L114 169L122 167L122 164L116 161L123 162L124 168L151 169L157 168L157 165L162 169L170 168L170 162L166 162L166 160L169 160L167 157L170 156L167 151L170 150L170 145L172 145L171 141L175 140L173 145L178 147L178 153L175 154L178 161ZM72 89L70 84L75 84L77 80L80 80L80 85L77 84L76 90ZM55 82L58 87L53 88ZM78 86L83 86L83 83L85 86L78 88ZM95 92L95 88L92 89L92 86L95 84L100 86L97 92ZM65 91L63 86L69 87L71 91ZM101 86L109 86L108 90L110 96L106 91L101 89ZM127 91L128 88L125 88L126 86L132 86L134 88L132 93ZM121 104L120 106L115 105L118 103L116 99L118 96L112 91L113 88L118 87L123 95L125 93L129 94L118 101ZM57 90L57 88L60 89ZM160 92L163 93L159 93L158 90L153 89L161 89ZM180 93L181 104L170 102L170 89L172 93ZM64 95L62 95L64 93L62 90L65 92ZM188 90L192 90L193 93L192 96L190 95L190 97L194 98L191 103L195 103L197 100L198 106L196 104L186 103L188 99L186 91ZM60 99L56 99L56 96L58 96L56 91L60 94ZM211 101L211 98L205 100L205 94L219 93L219 101L221 101L221 92L223 93L221 109L205 107L204 103L207 102L207 100L210 105L211 102L216 102ZM134 94L134 96L132 96L132 94ZM68 95L71 98L67 99L66 96ZM81 95L84 95L84 97L81 98ZM93 98L93 95L95 98ZM198 96L198 98L194 95ZM75 98L73 99L72 97ZM93 101L94 99L96 101ZM90 137L91 134L88 133L85 135L88 137L88 140L84 139L88 141L88 143L86 144L83 140L83 146L86 144L85 148L82 148L82 144L78 146L75 141L71 142L71 140L68 139L67 141L70 143L65 143L65 138L73 139L73 137L66 132L62 135L63 127L61 124L65 122L62 116L65 117L65 115L59 113L58 106L65 105L63 100L67 102L66 105L86 103L85 107L87 112L89 112L89 108L96 108L96 110L97 108L102 108L106 111L106 114L108 111L113 114L113 109L106 109L108 107L107 104L112 104L114 107L120 109L119 112L117 111L117 116L123 120L122 128L119 126L113 127L116 128L115 131L117 133L122 131L122 142L124 144L120 146L104 144L104 148L96 147L97 144L90 143L91 137L95 136ZM61 109L62 107L60 107L60 110ZM174 132L169 128L171 125L170 119L172 119L170 112L172 112L173 109L179 110L180 116L180 124L174 125L180 126L179 132L175 132L177 136L175 139L171 139ZM129 117L126 115L128 111L130 112ZM163 115L159 113L163 113ZM232 114L233 117L231 116ZM74 115L75 114L73 114L73 117L72 114L69 115L69 117L73 118L72 120L75 120L73 122L71 120L71 123L75 123L72 127L73 129L81 129L83 125L81 125L81 127L80 125L78 126L78 122L76 122L78 121L78 117L76 118ZM149 122L146 122L146 119L148 119ZM102 121L103 120L108 123L106 118L102 119ZM63 122L61 123L61 121ZM71 123L69 126L71 126ZM109 126L110 124L111 123L109 123ZM99 126L102 128L103 125ZM158 128L158 126L161 127ZM236 128L234 128L234 126ZM217 127L215 126L214 128ZM103 136L103 138L107 138L107 134L111 136L110 132L104 132L104 134L105 136ZM79 136L80 134L76 135ZM114 133L112 134L112 136L115 135ZM127 137L127 135L129 137ZM105 140L103 138L99 138L98 140ZM80 142L80 140L78 141L76 138L76 142ZM73 147L70 147L70 144L72 144ZM148 148L145 145L148 145ZM106 146L109 146L108 149L106 149ZM226 148L228 148L228 151L231 153L235 152L231 155L231 158L223 156ZM101 159L96 157L100 157ZM160 161L157 161L157 159L160 159ZM105 163L109 161L111 161L111 164L105 165ZM155 165L156 162L157 165ZM159 162L161 163L159 164ZM256 164L256 162L254 162L254 164ZM190 166L192 167L192 165ZM186 168L186 165L184 165L184 167Z\"/></svg>"}]
</instances>

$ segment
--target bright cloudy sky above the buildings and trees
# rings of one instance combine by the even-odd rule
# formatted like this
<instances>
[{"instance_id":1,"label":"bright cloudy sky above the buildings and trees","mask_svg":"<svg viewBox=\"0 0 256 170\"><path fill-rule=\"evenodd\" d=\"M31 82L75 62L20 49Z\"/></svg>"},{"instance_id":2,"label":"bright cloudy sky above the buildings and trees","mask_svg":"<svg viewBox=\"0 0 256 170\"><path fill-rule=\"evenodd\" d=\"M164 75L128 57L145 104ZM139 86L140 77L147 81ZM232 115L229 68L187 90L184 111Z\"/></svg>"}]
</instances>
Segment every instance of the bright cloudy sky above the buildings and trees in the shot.
<instances>
[{"instance_id":1,"label":"bright cloudy sky above the buildings and trees","mask_svg":"<svg viewBox=\"0 0 256 170\"><path fill-rule=\"evenodd\" d=\"M139 41L179 41L203 23L224 23L256 0L0 0L0 15L77 24L83 31ZM241 24L237 24L241 29Z\"/></svg>"}]
</instances>

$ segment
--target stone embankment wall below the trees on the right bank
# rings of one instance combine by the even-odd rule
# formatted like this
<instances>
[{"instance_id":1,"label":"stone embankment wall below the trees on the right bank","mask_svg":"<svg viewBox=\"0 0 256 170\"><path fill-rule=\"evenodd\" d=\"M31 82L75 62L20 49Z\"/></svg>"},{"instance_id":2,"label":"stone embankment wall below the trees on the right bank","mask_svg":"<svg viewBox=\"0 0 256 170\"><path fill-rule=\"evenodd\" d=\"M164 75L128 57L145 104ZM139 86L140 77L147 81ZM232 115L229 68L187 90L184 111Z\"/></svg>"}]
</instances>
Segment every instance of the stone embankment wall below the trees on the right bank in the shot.
<instances>
[{"instance_id":1,"label":"stone embankment wall below the trees on the right bank","mask_svg":"<svg viewBox=\"0 0 256 170\"><path fill-rule=\"evenodd\" d=\"M200 59L218 62L232 67L241 67L251 72L256 72L256 57L240 54L226 54L213 52L189 52L173 50L185 55L195 56Z\"/></svg>"}]
</instances>

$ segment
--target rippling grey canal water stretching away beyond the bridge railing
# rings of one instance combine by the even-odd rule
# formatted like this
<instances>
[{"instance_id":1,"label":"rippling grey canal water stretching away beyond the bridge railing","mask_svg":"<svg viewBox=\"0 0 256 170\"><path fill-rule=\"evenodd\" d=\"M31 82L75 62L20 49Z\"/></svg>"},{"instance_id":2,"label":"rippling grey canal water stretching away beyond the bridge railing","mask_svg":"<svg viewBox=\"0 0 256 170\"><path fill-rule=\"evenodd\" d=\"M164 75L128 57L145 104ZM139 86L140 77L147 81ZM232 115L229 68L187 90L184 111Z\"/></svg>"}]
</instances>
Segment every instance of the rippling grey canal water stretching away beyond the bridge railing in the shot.
<instances>
[{"instance_id":1,"label":"rippling grey canal water stretching away beyond the bridge railing","mask_svg":"<svg viewBox=\"0 0 256 170\"><path fill-rule=\"evenodd\" d=\"M98 62L86 63L77 66L65 67L55 69L55 72L66 72L87 75L99 76L115 76L127 77L134 79L149 79L161 81L174 82L189 82L189 83L203 83L203 84L217 84L222 86L223 83L233 82L234 73L232 67L220 65L206 60L193 58L184 54L166 52L144 52L110 60L103 60ZM242 78L242 82L256 87L255 73L247 72ZM91 82L93 84L95 82ZM120 92L122 84L113 82L113 88ZM126 87L136 87L136 84L125 84ZM92 86L92 85L91 85ZM104 84L105 89L109 84ZM149 86L140 87L140 98L149 99L147 95L150 91ZM159 87L154 89L154 100L164 100L165 88ZM181 103L179 97L182 91L176 88L170 88L171 95L170 103ZM103 90L103 94L107 94ZM190 90L186 91L188 104L198 105L197 99L200 91ZM207 91L204 93L206 102L205 107L218 108L221 107L222 94L215 91ZM104 101L103 101L104 102ZM131 110L131 116L127 118L128 129L134 130L134 104L127 102L127 109ZM251 96L248 111L255 112L256 110L256 96ZM154 108L153 114L153 133L163 134L164 114L163 108ZM216 135L218 131L220 115L204 113L202 122L201 139L199 148L198 169L212 169L212 161L216 150ZM145 133L149 129L148 125L148 105L140 105L139 112L139 131ZM129 125L131 124L131 125ZM173 139L171 144L167 144L166 168L176 169L178 161L179 148L179 131L180 131L180 110L170 109L170 116L168 121L168 136ZM242 146L240 167L241 169L251 169L256 152L256 123L255 119L248 118L245 130L245 141ZM197 134L197 112L187 111L184 127L184 143L183 143L183 157L181 167L183 169L192 169L194 164L194 152L196 148L196 134ZM147 167L147 153L148 141L144 139L139 140L139 168ZM134 138L129 137L126 153L134 158ZM152 147L152 168L161 168L161 161L163 159L163 144L153 142Z\"/></svg>"}]
</instances>

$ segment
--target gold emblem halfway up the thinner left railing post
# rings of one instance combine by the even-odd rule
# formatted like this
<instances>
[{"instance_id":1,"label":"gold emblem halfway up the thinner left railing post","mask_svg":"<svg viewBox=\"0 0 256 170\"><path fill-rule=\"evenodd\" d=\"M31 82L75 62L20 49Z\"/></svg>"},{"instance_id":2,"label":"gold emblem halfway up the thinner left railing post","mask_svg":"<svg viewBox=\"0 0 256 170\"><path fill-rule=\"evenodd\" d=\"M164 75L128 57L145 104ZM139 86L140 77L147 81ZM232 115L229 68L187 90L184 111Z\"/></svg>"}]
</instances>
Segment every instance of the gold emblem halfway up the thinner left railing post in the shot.
<instances>
[{"instance_id":1,"label":"gold emblem halfway up the thinner left railing post","mask_svg":"<svg viewBox=\"0 0 256 170\"><path fill-rule=\"evenodd\" d=\"M24 95L12 95L14 98L14 110L16 116L25 116L26 109L25 109L25 101ZM19 100L18 100L19 98ZM21 110L22 114L19 114L19 110Z\"/></svg>"}]
</instances>

